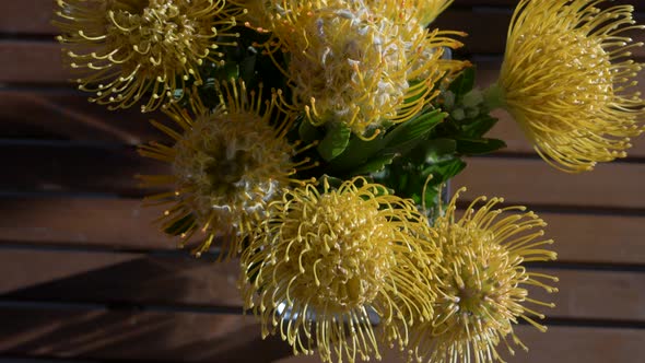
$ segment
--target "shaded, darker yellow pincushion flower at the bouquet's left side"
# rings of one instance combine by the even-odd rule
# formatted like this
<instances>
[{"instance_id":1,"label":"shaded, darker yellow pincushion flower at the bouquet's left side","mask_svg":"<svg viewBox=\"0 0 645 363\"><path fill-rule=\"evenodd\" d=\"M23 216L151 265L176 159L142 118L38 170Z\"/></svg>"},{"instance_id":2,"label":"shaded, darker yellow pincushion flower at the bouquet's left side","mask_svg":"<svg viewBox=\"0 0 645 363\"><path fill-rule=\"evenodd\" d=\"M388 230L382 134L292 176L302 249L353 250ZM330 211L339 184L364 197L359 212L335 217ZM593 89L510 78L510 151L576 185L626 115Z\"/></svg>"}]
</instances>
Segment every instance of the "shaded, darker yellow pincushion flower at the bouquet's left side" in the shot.
<instances>
[{"instance_id":1,"label":"shaded, darker yellow pincushion flower at the bouquet's left side","mask_svg":"<svg viewBox=\"0 0 645 363\"><path fill-rule=\"evenodd\" d=\"M265 218L267 203L280 198L282 188L304 185L306 180L292 175L312 166L308 159L292 161L308 147L296 150L286 141L294 116L282 112L280 94L273 92L261 106L261 87L256 94L239 83L223 84L214 110L190 94L195 115L178 106L166 112L181 132L153 122L176 143L153 142L139 150L172 166L168 175L141 176L145 186L173 188L146 200L171 204L161 218L162 229L183 231L183 244L196 232L203 233L197 255L218 237L223 243L221 256L237 254L239 242Z\"/></svg>"}]
</instances>

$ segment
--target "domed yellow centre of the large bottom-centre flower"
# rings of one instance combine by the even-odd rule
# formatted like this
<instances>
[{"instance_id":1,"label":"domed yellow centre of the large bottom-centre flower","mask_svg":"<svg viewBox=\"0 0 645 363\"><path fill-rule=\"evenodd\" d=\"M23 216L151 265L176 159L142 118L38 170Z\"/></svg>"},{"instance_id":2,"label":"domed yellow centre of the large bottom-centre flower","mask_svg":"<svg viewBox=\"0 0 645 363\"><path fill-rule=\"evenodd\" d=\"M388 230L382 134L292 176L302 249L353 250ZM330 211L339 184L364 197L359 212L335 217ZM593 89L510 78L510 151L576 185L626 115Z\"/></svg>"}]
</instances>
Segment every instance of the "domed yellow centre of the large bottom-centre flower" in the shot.
<instances>
[{"instance_id":1,"label":"domed yellow centre of the large bottom-centre flower","mask_svg":"<svg viewBox=\"0 0 645 363\"><path fill-rule=\"evenodd\" d=\"M392 265L394 233L378 206L360 196L330 191L294 209L282 227L283 235L297 236L283 270L297 276L293 297L339 313L370 303Z\"/></svg>"}]
</instances>

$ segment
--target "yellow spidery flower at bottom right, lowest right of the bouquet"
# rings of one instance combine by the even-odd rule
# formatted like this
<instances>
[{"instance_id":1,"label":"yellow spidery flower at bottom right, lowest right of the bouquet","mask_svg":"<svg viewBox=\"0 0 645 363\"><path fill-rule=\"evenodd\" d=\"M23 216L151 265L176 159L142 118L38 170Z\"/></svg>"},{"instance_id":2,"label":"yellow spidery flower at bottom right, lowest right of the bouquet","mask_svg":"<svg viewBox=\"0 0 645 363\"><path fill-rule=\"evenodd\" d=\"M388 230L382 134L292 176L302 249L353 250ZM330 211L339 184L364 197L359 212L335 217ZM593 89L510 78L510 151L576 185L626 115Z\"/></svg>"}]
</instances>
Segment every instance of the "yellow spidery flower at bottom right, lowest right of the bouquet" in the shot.
<instances>
[{"instance_id":1,"label":"yellow spidery flower at bottom right, lowest right of the bouquet","mask_svg":"<svg viewBox=\"0 0 645 363\"><path fill-rule=\"evenodd\" d=\"M411 328L408 352L419 362L493 362L502 361L496 351L500 341L511 349L507 337L527 349L513 331L513 324L524 319L536 328L547 328L533 320L543 315L527 305L549 306L528 297L527 286L558 291L544 280L556 278L527 271L524 262L556 258L544 249L553 243L543 241L546 223L525 207L496 208L502 198L492 198L476 209L485 197L476 199L456 220L456 201L435 221L439 261L435 265L438 297L432 321Z\"/></svg>"}]
</instances>

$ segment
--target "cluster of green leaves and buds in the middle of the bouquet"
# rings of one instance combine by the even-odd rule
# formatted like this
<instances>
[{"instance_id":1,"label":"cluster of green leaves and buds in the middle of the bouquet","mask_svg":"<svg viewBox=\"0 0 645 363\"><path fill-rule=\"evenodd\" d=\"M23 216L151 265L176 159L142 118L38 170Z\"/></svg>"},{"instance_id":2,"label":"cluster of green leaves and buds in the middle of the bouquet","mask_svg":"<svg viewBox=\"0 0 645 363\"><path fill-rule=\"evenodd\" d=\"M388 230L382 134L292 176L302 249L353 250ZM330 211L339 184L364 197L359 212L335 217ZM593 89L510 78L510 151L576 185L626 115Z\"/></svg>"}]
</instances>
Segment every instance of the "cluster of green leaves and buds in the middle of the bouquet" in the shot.
<instances>
[{"instance_id":1,"label":"cluster of green leaves and buds in the middle of the bouquet","mask_svg":"<svg viewBox=\"0 0 645 363\"><path fill-rule=\"evenodd\" d=\"M474 75L474 69L462 71L442 90L435 105L371 141L352 134L340 122L314 127L303 117L297 138L318 142L308 156L320 162L320 167L308 173L338 179L368 176L396 195L424 204L427 214L433 214L441 186L466 167L464 156L505 147L501 140L484 137L497 119L477 99Z\"/></svg>"}]
</instances>

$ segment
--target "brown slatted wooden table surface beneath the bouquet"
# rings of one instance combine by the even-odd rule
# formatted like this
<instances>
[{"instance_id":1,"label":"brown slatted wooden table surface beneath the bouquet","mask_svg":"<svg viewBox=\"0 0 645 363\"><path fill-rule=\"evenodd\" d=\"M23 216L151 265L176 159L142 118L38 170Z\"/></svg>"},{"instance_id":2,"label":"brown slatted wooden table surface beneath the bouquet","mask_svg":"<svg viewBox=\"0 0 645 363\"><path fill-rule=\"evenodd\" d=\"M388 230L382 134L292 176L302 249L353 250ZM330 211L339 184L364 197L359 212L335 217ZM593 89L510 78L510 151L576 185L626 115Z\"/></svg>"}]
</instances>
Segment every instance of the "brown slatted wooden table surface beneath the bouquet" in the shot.
<instances>
[{"instance_id":1,"label":"brown slatted wooden table surface beneath the bouquet","mask_svg":"<svg viewBox=\"0 0 645 363\"><path fill-rule=\"evenodd\" d=\"M514 2L457 0L439 19L470 33L460 56L481 85L496 77ZM67 83L52 3L0 3L0 362L316 362L239 315L236 261L187 257L152 225L159 210L142 208L132 175L160 165L134 145L160 136L149 116L108 113ZM549 332L519 326L530 353L508 361L645 361L645 138L573 176L501 119L492 133L508 148L470 159L454 186L539 212L560 255L539 269L561 278Z\"/></svg>"}]
</instances>

